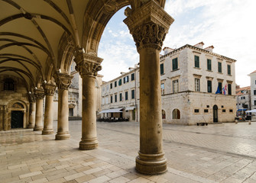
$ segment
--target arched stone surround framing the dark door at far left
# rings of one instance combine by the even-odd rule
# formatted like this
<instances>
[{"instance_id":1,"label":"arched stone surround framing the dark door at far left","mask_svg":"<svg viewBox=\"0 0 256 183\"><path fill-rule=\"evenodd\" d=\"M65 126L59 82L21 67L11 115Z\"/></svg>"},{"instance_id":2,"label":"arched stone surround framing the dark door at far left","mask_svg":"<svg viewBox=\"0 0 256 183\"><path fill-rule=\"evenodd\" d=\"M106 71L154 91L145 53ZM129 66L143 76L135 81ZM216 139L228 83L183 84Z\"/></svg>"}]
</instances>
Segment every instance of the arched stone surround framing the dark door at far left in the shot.
<instances>
[{"instance_id":1,"label":"arched stone surround framing the dark door at far left","mask_svg":"<svg viewBox=\"0 0 256 183\"><path fill-rule=\"evenodd\" d=\"M23 128L28 125L28 104L21 100L10 101L7 105L7 120L6 129L11 130L11 111L22 111L23 112Z\"/></svg>"}]
</instances>

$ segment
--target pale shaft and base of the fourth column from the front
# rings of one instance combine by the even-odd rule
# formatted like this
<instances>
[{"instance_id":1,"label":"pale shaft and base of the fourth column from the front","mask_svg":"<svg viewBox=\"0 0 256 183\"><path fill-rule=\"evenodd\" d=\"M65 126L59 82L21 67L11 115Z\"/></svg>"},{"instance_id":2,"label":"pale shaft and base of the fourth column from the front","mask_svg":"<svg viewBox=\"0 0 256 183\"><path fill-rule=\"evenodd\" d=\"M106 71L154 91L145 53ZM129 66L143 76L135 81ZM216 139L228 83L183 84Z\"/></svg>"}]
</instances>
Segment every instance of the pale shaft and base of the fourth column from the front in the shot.
<instances>
[{"instance_id":1,"label":"pale shaft and base of the fourth column from the front","mask_svg":"<svg viewBox=\"0 0 256 183\"><path fill-rule=\"evenodd\" d=\"M53 95L45 97L44 130L43 135L53 133Z\"/></svg>"}]
</instances>

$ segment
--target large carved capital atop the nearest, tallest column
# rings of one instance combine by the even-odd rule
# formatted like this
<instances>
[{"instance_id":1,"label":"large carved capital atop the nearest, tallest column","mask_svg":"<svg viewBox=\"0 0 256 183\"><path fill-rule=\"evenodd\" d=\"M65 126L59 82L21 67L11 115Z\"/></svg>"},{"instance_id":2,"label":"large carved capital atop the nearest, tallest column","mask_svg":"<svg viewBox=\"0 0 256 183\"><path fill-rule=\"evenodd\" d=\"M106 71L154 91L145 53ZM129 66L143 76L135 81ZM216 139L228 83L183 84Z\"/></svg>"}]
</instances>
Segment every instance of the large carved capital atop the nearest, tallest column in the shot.
<instances>
[{"instance_id":1,"label":"large carved capital atop the nearest, tallest column","mask_svg":"<svg viewBox=\"0 0 256 183\"><path fill-rule=\"evenodd\" d=\"M140 8L131 11L126 8L124 22L134 38L138 52L144 47L161 50L165 35L174 19L156 2L149 1Z\"/></svg>"}]
</instances>

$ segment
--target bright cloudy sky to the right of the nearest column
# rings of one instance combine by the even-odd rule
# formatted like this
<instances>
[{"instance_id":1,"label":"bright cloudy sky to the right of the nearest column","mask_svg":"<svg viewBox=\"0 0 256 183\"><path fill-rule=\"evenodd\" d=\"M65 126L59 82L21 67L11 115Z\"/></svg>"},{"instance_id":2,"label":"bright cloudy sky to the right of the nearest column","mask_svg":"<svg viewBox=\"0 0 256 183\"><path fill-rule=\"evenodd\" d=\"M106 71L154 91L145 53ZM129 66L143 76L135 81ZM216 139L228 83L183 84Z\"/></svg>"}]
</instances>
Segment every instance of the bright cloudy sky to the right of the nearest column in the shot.
<instances>
[{"instance_id":1,"label":"bright cloudy sky to the right of the nearest column","mask_svg":"<svg viewBox=\"0 0 256 183\"><path fill-rule=\"evenodd\" d=\"M236 83L250 85L247 75L256 69L255 8L254 0L167 0L165 10L176 21L170 26L164 47L200 41L206 47L213 45L215 53L237 59Z\"/></svg>"}]
</instances>

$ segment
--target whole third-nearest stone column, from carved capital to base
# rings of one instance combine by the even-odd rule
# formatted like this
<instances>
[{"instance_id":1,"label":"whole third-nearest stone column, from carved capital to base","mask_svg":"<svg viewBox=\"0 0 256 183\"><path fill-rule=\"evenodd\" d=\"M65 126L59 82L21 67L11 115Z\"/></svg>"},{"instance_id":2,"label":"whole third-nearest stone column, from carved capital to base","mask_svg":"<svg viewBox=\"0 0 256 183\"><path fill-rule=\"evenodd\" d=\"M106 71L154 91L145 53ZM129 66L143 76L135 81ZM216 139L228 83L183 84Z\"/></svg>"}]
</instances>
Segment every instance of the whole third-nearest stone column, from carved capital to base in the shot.
<instances>
[{"instance_id":1,"label":"whole third-nearest stone column, from carved capital to base","mask_svg":"<svg viewBox=\"0 0 256 183\"><path fill-rule=\"evenodd\" d=\"M57 73L54 75L55 82L58 87L58 127L55 140L69 140L69 91L73 75L65 73Z\"/></svg>"}]
</instances>

